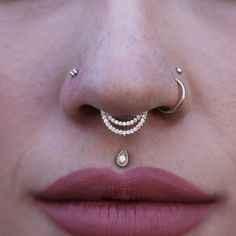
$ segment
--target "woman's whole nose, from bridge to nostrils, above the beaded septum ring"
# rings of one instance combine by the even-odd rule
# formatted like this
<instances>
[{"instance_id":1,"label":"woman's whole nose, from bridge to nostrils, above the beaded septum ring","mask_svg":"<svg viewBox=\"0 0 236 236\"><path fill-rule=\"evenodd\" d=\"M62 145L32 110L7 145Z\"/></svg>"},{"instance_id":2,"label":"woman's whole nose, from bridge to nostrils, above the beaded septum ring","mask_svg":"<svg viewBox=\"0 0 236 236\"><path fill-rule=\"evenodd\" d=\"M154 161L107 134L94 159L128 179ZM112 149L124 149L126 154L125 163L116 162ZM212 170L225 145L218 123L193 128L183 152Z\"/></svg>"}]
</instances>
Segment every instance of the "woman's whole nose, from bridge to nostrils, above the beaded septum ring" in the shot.
<instances>
[{"instance_id":1,"label":"woman's whole nose, from bridge to nostrils, above the beaded septum ring","mask_svg":"<svg viewBox=\"0 0 236 236\"><path fill-rule=\"evenodd\" d=\"M75 114L89 105L125 119L176 104L175 64L161 43L164 36L157 33L161 23L153 22L145 10L140 1L111 1L104 10L78 76L65 82L66 112Z\"/></svg>"}]
</instances>

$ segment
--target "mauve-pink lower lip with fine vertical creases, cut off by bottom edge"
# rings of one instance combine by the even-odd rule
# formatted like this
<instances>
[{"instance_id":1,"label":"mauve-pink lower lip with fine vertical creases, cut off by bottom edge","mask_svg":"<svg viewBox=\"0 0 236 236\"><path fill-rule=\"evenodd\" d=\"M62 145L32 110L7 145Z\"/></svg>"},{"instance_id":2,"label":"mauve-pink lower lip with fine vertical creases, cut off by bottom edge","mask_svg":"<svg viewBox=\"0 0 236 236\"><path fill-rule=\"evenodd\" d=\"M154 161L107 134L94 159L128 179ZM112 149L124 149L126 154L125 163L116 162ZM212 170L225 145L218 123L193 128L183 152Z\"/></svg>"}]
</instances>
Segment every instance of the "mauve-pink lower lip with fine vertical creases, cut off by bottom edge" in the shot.
<instances>
[{"instance_id":1,"label":"mauve-pink lower lip with fine vertical creases, cut off by bottom edge","mask_svg":"<svg viewBox=\"0 0 236 236\"><path fill-rule=\"evenodd\" d=\"M40 202L43 211L75 236L181 236L212 204L129 201Z\"/></svg>"}]
</instances>

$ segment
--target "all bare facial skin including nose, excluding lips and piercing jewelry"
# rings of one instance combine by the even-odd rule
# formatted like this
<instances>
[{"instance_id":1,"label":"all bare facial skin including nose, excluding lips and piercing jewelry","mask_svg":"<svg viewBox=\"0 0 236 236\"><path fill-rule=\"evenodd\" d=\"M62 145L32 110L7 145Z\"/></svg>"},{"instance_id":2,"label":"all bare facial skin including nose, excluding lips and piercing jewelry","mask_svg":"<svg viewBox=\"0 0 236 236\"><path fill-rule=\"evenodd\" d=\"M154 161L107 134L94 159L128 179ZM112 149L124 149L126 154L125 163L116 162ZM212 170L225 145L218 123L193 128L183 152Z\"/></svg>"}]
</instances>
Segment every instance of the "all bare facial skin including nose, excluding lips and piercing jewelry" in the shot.
<instances>
[{"instance_id":1,"label":"all bare facial skin including nose, excluding lips and piercing jewelry","mask_svg":"<svg viewBox=\"0 0 236 236\"><path fill-rule=\"evenodd\" d=\"M236 234L235 22L233 0L0 0L0 235L68 235L35 194L75 170L125 171L121 148L129 169L161 168L216 197L187 236ZM176 65L187 99L163 116L178 99ZM120 137L100 109L150 112Z\"/></svg>"}]
</instances>

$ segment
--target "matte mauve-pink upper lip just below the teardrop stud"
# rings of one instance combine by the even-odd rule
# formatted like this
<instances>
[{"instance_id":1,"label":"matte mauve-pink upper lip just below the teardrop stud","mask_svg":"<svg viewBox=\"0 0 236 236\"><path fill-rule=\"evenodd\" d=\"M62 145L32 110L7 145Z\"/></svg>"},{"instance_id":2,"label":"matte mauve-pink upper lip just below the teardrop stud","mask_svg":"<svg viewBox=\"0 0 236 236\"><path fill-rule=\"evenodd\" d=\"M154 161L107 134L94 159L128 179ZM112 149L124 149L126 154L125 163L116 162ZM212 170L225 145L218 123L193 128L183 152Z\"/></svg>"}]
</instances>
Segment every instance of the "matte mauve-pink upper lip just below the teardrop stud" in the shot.
<instances>
[{"instance_id":1,"label":"matte mauve-pink upper lip just below the teardrop stud","mask_svg":"<svg viewBox=\"0 0 236 236\"><path fill-rule=\"evenodd\" d=\"M138 167L117 173L88 168L59 178L38 195L43 201L207 202L210 196L165 170Z\"/></svg>"}]
</instances>

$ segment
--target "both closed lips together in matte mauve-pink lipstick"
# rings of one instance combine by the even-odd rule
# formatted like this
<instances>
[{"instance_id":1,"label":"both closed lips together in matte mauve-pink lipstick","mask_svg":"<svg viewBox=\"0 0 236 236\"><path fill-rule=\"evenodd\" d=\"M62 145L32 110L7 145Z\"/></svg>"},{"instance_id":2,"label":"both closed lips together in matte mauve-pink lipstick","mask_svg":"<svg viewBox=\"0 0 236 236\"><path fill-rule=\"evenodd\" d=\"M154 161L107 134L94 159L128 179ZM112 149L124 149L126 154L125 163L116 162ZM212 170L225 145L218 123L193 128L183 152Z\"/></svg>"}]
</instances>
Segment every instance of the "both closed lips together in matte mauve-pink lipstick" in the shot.
<instances>
[{"instance_id":1,"label":"both closed lips together in matte mauve-pink lipstick","mask_svg":"<svg viewBox=\"0 0 236 236\"><path fill-rule=\"evenodd\" d=\"M190 182L148 167L76 171L49 185L38 200L59 227L76 236L181 236L213 203Z\"/></svg>"}]
</instances>

